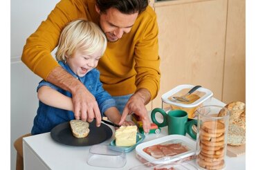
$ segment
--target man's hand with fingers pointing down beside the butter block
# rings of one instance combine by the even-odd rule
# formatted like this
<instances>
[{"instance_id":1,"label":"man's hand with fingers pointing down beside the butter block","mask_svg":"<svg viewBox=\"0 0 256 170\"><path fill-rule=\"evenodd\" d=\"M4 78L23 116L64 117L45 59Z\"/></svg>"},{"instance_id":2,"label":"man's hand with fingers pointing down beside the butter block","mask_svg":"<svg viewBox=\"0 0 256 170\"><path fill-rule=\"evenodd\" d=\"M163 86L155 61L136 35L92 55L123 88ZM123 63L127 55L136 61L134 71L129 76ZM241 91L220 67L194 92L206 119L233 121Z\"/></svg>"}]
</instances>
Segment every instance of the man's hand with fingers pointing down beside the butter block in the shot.
<instances>
[{"instance_id":1,"label":"man's hand with fingers pointing down beside the butter block","mask_svg":"<svg viewBox=\"0 0 256 170\"><path fill-rule=\"evenodd\" d=\"M150 121L149 116L147 115L147 109L145 104L147 104L150 100L150 93L145 88L140 88L134 95L131 95L130 99L128 100L124 111L122 112L122 117L120 119L119 125L125 122L125 118L127 115L131 113L135 113L140 117L140 120L143 122L143 130L145 133L149 132L150 128Z\"/></svg>"}]
</instances>

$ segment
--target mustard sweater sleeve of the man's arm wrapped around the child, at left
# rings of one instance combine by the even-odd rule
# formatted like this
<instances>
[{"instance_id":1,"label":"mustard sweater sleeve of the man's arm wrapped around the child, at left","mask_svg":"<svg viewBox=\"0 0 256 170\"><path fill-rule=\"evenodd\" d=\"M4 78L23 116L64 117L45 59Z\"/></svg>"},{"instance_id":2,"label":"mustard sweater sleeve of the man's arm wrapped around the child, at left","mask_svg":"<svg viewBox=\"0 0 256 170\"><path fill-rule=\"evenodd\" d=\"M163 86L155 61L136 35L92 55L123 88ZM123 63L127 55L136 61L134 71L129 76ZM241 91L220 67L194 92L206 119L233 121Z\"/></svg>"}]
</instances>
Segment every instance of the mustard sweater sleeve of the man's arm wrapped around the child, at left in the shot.
<instances>
[{"instance_id":1,"label":"mustard sweater sleeve of the man's arm wrapped around the child, at left","mask_svg":"<svg viewBox=\"0 0 256 170\"><path fill-rule=\"evenodd\" d=\"M42 21L39 28L26 40L21 61L43 79L47 78L51 70L59 66L51 55L51 51L57 46L64 26L82 16L83 12L80 8L82 8L81 1L60 1L46 21Z\"/></svg>"}]
</instances>

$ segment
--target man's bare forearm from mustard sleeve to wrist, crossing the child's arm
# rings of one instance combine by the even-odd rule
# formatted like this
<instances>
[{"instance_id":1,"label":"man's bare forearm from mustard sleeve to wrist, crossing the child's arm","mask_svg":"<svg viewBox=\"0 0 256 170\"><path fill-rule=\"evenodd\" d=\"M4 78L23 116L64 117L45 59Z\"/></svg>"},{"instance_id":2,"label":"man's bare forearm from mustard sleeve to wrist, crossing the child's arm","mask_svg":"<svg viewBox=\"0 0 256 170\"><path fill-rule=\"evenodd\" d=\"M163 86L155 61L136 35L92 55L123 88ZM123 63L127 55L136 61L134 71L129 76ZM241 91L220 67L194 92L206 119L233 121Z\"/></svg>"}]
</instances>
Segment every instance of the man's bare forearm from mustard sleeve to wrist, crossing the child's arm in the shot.
<instances>
[{"instance_id":1,"label":"man's bare forearm from mustard sleeve to wrist, crossing the child's arm","mask_svg":"<svg viewBox=\"0 0 256 170\"><path fill-rule=\"evenodd\" d=\"M48 75L47 82L51 82L56 86L64 89L65 91L73 92L75 89L82 85L82 83L75 79L71 74L67 73L66 70L62 68L62 66L58 66L54 68L51 73Z\"/></svg>"}]
</instances>

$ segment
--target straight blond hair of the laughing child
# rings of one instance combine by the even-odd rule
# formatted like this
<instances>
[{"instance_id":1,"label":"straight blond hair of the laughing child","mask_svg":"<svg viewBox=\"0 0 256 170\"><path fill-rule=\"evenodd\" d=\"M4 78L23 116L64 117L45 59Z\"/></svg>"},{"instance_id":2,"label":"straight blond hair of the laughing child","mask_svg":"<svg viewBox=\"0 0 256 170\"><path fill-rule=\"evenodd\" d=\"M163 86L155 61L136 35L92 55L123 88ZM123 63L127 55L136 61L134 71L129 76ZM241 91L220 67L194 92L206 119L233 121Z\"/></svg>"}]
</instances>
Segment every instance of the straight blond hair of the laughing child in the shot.
<instances>
[{"instance_id":1,"label":"straight blond hair of the laughing child","mask_svg":"<svg viewBox=\"0 0 256 170\"><path fill-rule=\"evenodd\" d=\"M107 39L95 23L77 19L68 23L62 30L55 55L57 61L66 62L66 56L73 57L76 50L80 50L84 55L101 51L103 55L106 47Z\"/></svg>"}]
</instances>

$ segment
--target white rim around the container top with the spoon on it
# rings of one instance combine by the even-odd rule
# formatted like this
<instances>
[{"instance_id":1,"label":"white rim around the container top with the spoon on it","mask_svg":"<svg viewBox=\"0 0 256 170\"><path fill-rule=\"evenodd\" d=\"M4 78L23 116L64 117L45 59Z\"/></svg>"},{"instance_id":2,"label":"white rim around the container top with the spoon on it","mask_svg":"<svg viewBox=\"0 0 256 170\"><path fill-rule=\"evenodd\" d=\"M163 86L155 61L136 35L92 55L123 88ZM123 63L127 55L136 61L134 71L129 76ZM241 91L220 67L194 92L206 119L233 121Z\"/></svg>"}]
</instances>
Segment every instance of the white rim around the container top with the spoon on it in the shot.
<instances>
[{"instance_id":1,"label":"white rim around the container top with the spoon on it","mask_svg":"<svg viewBox=\"0 0 256 170\"><path fill-rule=\"evenodd\" d=\"M190 91L191 88L193 88L194 85L191 84L183 84L183 85L179 85L176 86L175 88L172 88L171 91L168 91L167 93L162 95L162 101L167 103L167 104L173 104L175 106L180 106L180 107L184 107L184 108L192 108L192 107L196 107L199 106L199 104L205 102L205 100L208 100L210 97L212 97L213 93L212 91L208 90L207 88L198 88L194 93L201 93L202 96L200 96L200 98L190 104L184 104L181 103L179 101L175 101L175 100L170 100L170 97L172 96L176 96L176 93L179 93L180 91L182 91L184 88L188 88L188 91ZM185 93L188 93L188 91L186 91ZM182 95L185 95L185 93L183 93ZM194 94L192 93L192 94Z\"/></svg>"}]
</instances>

